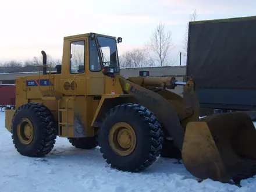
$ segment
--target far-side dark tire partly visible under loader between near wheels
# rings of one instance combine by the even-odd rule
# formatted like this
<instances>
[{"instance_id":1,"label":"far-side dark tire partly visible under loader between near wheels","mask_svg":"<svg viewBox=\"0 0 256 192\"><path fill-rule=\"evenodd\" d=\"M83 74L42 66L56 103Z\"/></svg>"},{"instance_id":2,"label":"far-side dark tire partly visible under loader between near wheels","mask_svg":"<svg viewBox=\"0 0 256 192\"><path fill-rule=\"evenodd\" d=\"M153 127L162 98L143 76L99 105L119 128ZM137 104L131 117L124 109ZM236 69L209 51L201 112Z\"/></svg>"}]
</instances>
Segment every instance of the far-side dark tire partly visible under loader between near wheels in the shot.
<instances>
[{"instance_id":1,"label":"far-side dark tire partly visible under loader between near wheels","mask_svg":"<svg viewBox=\"0 0 256 192\"><path fill-rule=\"evenodd\" d=\"M68 138L68 140L74 147L83 150L91 150L98 146L95 137Z\"/></svg>"}]
</instances>

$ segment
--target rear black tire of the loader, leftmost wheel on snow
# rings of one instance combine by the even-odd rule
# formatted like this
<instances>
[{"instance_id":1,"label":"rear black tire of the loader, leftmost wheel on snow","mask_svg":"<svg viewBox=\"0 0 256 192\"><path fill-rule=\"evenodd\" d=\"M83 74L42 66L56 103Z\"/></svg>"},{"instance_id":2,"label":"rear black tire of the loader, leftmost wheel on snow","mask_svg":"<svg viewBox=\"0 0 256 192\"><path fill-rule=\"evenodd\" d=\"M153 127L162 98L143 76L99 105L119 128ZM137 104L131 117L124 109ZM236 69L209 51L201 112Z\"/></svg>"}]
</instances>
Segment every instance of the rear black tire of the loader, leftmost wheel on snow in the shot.
<instances>
[{"instance_id":1,"label":"rear black tire of the loader, leftmost wheel on snow","mask_svg":"<svg viewBox=\"0 0 256 192\"><path fill-rule=\"evenodd\" d=\"M22 131L24 123L33 127L30 128L31 138L24 138L25 131ZM11 132L16 150L24 156L42 157L54 148L56 139L54 117L43 104L29 103L20 106L13 115Z\"/></svg>"}]
</instances>

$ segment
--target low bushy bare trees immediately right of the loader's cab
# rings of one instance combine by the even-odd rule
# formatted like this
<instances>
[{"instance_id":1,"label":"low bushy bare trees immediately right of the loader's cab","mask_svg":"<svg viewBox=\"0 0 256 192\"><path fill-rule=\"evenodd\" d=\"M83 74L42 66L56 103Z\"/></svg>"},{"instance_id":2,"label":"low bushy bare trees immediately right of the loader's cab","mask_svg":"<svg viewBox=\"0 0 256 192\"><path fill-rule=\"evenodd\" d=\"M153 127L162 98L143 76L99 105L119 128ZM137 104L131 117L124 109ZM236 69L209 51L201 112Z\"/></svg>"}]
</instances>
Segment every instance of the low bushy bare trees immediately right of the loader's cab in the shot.
<instances>
[{"instance_id":1,"label":"low bushy bare trees immediately right of the loader's cab","mask_svg":"<svg viewBox=\"0 0 256 192\"><path fill-rule=\"evenodd\" d=\"M119 56L120 67L145 67L150 66L146 56L146 49L133 49Z\"/></svg>"}]
</instances>

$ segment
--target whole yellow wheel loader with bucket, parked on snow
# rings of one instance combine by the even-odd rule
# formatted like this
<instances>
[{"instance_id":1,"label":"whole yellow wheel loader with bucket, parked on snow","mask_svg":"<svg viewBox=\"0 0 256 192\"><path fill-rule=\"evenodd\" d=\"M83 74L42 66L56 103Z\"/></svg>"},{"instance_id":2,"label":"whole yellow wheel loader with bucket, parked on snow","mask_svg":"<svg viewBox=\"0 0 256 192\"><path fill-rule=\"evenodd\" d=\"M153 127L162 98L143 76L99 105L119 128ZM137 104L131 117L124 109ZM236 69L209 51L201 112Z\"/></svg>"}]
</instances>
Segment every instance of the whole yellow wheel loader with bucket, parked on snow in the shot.
<instances>
[{"instance_id":1,"label":"whole yellow wheel loader with bucket, parked on snow","mask_svg":"<svg viewBox=\"0 0 256 192\"><path fill-rule=\"evenodd\" d=\"M180 156L199 179L239 183L256 175L256 130L246 113L200 119L192 79L120 76L120 42L96 33L65 37L56 72L47 71L42 51L42 74L17 77L5 127L20 154L47 155L59 136L77 148L99 145L123 171L144 170L161 155ZM176 86L183 97L170 91Z\"/></svg>"}]
</instances>

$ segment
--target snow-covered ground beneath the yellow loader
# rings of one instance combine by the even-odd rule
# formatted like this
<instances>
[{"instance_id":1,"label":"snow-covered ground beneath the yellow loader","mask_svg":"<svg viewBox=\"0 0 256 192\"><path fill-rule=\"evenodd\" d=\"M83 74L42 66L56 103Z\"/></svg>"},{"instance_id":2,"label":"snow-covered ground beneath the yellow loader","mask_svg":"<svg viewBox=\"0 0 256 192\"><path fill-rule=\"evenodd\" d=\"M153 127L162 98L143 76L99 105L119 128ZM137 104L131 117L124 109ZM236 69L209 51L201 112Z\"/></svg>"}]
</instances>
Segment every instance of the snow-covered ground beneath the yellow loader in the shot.
<instances>
[{"instance_id":1,"label":"snow-covered ground beneath the yellow loader","mask_svg":"<svg viewBox=\"0 0 256 192\"><path fill-rule=\"evenodd\" d=\"M57 138L54 150L44 158L18 154L5 129L5 113L0 112L0 191L256 191L256 177L243 180L242 187L204 180L198 183L174 159L159 158L141 173L109 168L99 149L79 150L66 138Z\"/></svg>"}]
</instances>

